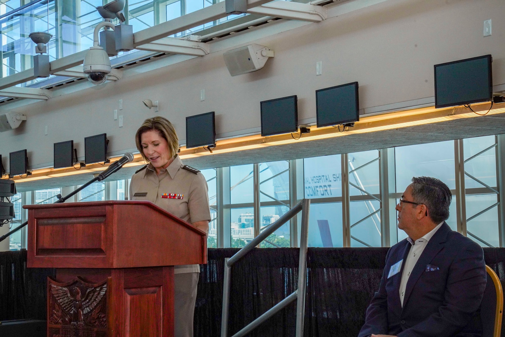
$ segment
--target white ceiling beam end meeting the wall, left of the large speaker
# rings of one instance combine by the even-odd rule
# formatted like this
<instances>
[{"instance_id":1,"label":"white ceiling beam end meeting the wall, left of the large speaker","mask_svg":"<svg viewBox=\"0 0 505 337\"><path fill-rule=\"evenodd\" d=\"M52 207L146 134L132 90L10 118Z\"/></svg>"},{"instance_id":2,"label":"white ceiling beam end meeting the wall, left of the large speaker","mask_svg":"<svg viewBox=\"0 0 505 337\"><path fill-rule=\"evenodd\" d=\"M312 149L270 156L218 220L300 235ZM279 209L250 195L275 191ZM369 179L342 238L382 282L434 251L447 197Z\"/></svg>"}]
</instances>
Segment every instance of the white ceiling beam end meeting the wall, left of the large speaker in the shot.
<instances>
[{"instance_id":1,"label":"white ceiling beam end meeting the wall, left of the large speaker","mask_svg":"<svg viewBox=\"0 0 505 337\"><path fill-rule=\"evenodd\" d=\"M179 40L173 37L165 37L150 43L141 44L136 46L135 49L192 56L205 56L210 53L210 47L207 43Z\"/></svg>"}]
</instances>

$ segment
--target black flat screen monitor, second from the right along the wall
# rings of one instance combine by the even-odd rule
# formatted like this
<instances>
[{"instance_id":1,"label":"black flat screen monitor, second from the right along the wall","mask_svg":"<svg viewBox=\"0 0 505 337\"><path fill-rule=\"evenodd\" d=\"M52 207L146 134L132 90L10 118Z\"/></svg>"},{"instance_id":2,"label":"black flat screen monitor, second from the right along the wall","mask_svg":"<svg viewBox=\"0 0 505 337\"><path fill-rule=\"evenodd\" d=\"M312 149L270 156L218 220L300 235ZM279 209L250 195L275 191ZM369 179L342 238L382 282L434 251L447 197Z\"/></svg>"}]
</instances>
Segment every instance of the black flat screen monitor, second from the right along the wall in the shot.
<instances>
[{"instance_id":1,"label":"black flat screen monitor, second from the right along the wall","mask_svg":"<svg viewBox=\"0 0 505 337\"><path fill-rule=\"evenodd\" d=\"M358 82L316 90L317 127L360 120Z\"/></svg>"}]
</instances>

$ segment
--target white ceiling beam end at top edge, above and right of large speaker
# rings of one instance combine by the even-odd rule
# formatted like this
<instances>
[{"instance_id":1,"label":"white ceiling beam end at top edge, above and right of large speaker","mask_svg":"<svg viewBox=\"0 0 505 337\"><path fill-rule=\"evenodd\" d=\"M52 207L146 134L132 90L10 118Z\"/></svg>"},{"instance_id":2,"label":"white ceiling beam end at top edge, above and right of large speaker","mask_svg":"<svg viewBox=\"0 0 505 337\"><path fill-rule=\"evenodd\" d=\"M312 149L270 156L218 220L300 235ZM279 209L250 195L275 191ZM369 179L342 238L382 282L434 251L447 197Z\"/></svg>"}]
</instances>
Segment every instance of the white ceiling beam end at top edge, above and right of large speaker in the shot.
<instances>
[{"instance_id":1,"label":"white ceiling beam end at top edge, above and right of large speaker","mask_svg":"<svg viewBox=\"0 0 505 337\"><path fill-rule=\"evenodd\" d=\"M328 18L326 8L322 6L276 1L247 10L250 14L273 16L276 18L319 22Z\"/></svg>"}]
</instances>

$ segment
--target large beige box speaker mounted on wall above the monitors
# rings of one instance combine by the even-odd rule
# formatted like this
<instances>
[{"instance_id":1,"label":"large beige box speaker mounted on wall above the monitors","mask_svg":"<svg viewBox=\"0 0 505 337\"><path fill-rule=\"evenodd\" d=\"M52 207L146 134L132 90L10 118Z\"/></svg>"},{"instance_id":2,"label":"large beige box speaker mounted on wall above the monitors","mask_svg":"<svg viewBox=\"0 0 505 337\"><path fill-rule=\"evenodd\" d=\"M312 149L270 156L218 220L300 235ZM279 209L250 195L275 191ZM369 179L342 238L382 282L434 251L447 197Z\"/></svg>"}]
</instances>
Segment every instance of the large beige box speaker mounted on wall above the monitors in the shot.
<instances>
[{"instance_id":1,"label":"large beige box speaker mounted on wall above the monitors","mask_svg":"<svg viewBox=\"0 0 505 337\"><path fill-rule=\"evenodd\" d=\"M250 73L265 66L269 57L274 57L274 51L260 44L249 44L223 54L224 63L231 76Z\"/></svg>"}]
</instances>

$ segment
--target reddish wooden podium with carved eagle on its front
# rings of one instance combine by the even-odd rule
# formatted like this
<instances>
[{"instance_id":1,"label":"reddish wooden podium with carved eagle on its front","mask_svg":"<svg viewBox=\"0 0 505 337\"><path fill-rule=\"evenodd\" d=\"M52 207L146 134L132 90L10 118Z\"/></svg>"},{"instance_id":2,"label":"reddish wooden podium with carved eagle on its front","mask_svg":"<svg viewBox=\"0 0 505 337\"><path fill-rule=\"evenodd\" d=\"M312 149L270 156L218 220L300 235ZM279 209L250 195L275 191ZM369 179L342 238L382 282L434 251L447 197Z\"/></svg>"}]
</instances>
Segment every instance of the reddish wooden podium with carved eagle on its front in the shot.
<instances>
[{"instance_id":1,"label":"reddish wooden podium with carved eagle on its front","mask_svg":"<svg viewBox=\"0 0 505 337\"><path fill-rule=\"evenodd\" d=\"M206 233L146 201L27 205L28 267L47 282L48 337L174 335L174 265L207 263Z\"/></svg>"}]
</instances>

